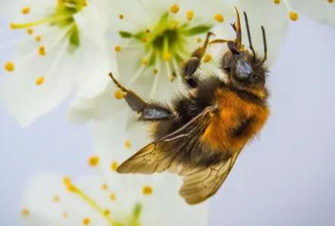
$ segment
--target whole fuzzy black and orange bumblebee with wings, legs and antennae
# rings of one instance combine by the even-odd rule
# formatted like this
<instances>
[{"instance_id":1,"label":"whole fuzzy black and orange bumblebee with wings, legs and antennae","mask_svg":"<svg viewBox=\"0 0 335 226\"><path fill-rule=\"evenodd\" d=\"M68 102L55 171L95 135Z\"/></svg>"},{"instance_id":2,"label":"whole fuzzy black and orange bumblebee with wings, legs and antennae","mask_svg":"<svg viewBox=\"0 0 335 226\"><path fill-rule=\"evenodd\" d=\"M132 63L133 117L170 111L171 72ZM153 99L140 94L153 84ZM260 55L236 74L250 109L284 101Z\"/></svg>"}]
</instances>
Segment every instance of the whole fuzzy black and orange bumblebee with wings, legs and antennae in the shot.
<instances>
[{"instance_id":1,"label":"whole fuzzy black and orange bumblebee with wings, legs and antennae","mask_svg":"<svg viewBox=\"0 0 335 226\"><path fill-rule=\"evenodd\" d=\"M121 174L153 174L166 170L183 177L180 195L195 205L216 194L227 178L243 147L260 132L269 116L267 41L262 29L264 56L256 54L251 43L247 14L245 23L249 49L242 44L240 15L232 24L236 39L215 39L212 33L202 47L182 65L186 94L178 94L169 104L144 101L124 88L109 74L124 99L138 113L138 121L153 128L153 142L117 168ZM200 68L207 46L227 43L221 61L222 74L200 79Z\"/></svg>"}]
</instances>

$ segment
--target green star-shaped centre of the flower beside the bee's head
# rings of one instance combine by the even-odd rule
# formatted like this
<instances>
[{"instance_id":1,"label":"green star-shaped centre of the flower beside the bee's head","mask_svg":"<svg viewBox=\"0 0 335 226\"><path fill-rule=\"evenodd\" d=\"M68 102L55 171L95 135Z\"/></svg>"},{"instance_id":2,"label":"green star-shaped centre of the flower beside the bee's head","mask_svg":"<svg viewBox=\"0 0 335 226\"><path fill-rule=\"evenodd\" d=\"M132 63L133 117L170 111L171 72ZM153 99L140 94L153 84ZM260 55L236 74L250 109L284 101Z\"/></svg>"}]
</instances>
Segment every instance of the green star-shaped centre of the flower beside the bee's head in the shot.
<instances>
[{"instance_id":1,"label":"green star-shaped centre of the flower beside the bee's head","mask_svg":"<svg viewBox=\"0 0 335 226\"><path fill-rule=\"evenodd\" d=\"M160 59L180 63L184 56L189 56L193 51L189 45L189 38L205 34L211 28L212 25L207 24L191 26L189 22L180 22L171 13L166 12L151 30L136 33L119 31L119 35L124 39L135 39L143 43L146 61L150 66Z\"/></svg>"}]
</instances>

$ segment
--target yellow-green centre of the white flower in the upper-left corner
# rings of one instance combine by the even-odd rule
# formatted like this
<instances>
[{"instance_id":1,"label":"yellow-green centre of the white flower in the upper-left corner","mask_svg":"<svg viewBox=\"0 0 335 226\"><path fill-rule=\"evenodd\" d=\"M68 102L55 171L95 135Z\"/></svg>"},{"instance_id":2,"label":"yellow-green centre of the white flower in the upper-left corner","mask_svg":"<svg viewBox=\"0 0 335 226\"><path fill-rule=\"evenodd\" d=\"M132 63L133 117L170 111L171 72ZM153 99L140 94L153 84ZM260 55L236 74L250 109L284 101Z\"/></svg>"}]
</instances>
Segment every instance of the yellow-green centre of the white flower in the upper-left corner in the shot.
<instances>
[{"instance_id":1,"label":"yellow-green centre of the white flower in the upper-left corner","mask_svg":"<svg viewBox=\"0 0 335 226\"><path fill-rule=\"evenodd\" d=\"M55 6L55 11L49 16L37 21L28 23L11 23L10 28L16 29L30 29L37 25L48 24L50 26L58 26L61 29L68 29L66 37L71 45L79 47L80 38L79 30L75 24L73 16L87 5L86 0L58 0ZM30 8L23 8L23 14L30 13Z\"/></svg>"}]
</instances>

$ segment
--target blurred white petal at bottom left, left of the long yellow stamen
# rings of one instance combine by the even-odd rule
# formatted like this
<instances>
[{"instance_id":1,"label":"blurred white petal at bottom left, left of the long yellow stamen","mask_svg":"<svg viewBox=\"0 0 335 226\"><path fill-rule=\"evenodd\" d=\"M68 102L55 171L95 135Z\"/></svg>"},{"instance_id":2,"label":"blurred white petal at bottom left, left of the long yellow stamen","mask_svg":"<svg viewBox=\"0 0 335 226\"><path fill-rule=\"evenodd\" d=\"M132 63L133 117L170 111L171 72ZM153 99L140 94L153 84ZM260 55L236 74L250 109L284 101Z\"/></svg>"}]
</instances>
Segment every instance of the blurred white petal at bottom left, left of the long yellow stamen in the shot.
<instances>
[{"instance_id":1,"label":"blurred white petal at bottom left, left of the long yellow stamen","mask_svg":"<svg viewBox=\"0 0 335 226\"><path fill-rule=\"evenodd\" d=\"M29 211L23 216L29 226L83 225L84 218L90 218L92 225L109 225L85 198L68 192L57 174L30 178L22 206Z\"/></svg>"}]
</instances>

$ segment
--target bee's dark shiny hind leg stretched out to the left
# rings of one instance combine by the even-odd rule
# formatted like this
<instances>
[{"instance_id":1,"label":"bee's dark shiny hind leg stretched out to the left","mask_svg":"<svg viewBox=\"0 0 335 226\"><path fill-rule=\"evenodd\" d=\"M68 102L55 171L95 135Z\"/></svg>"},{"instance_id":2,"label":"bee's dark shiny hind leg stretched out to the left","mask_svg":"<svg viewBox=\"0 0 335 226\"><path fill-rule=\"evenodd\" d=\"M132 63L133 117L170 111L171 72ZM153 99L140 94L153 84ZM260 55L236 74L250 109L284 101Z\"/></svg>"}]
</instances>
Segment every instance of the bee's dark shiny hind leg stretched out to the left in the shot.
<instances>
[{"instance_id":1,"label":"bee's dark shiny hind leg stretched out to the left","mask_svg":"<svg viewBox=\"0 0 335 226\"><path fill-rule=\"evenodd\" d=\"M158 105L156 103L146 103L140 96L135 92L128 90L122 86L119 81L115 79L113 74L110 72L109 76L122 92L124 92L124 99L128 103L129 107L139 114L140 121L158 121L164 119L171 119L175 114L169 110L168 107Z\"/></svg>"}]
</instances>

